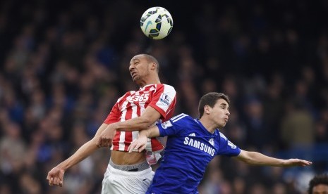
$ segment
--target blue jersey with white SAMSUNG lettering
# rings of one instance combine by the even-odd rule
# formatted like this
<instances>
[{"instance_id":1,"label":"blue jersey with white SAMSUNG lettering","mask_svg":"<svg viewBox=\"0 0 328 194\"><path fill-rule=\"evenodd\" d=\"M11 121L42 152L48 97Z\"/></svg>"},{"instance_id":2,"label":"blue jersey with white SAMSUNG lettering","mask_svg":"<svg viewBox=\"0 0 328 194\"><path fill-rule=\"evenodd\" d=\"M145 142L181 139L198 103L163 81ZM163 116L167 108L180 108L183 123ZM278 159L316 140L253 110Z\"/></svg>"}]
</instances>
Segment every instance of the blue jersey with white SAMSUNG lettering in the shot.
<instances>
[{"instance_id":1,"label":"blue jersey with white SAMSUNG lettering","mask_svg":"<svg viewBox=\"0 0 328 194\"><path fill-rule=\"evenodd\" d=\"M168 136L163 160L147 193L198 193L207 164L215 155L236 156L241 150L219 129L210 133L198 119L181 114L157 124Z\"/></svg>"}]
</instances>

